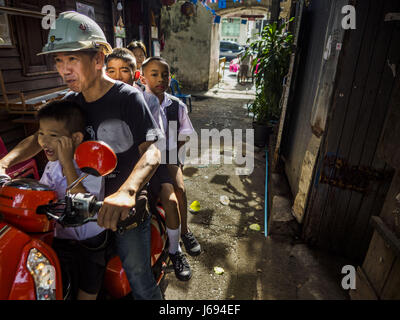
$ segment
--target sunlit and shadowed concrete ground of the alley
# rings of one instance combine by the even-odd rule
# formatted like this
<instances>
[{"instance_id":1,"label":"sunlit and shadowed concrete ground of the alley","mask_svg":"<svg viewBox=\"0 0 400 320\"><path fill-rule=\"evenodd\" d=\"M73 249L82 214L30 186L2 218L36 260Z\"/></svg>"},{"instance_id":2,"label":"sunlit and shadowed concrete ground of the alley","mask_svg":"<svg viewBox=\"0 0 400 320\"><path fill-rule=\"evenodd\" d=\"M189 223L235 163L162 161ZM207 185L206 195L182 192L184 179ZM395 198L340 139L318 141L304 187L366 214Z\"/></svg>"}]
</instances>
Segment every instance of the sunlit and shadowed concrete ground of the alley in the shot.
<instances>
[{"instance_id":1,"label":"sunlit and shadowed concrete ground of the alley","mask_svg":"<svg viewBox=\"0 0 400 320\"><path fill-rule=\"evenodd\" d=\"M246 104L254 99L254 86L237 84L235 74L227 69L218 86L192 94L190 118L198 134L200 129L251 128ZM232 152L232 145L225 148ZM265 151L256 148L254 170L247 176L236 175L235 164L185 166L188 204L197 200L201 208L188 213L189 227L203 252L197 257L187 255L193 271L190 281L177 280L173 271L167 273L161 285L165 299L348 299L341 288L343 259L310 249L290 230L264 236L265 162ZM269 214L276 225L282 222L282 210L290 212L290 191L277 174L271 175L268 188L274 199ZM221 203L223 195L229 198L228 205ZM252 224L259 224L261 230L252 230ZM223 268L223 274L216 274L214 267Z\"/></svg>"}]
</instances>

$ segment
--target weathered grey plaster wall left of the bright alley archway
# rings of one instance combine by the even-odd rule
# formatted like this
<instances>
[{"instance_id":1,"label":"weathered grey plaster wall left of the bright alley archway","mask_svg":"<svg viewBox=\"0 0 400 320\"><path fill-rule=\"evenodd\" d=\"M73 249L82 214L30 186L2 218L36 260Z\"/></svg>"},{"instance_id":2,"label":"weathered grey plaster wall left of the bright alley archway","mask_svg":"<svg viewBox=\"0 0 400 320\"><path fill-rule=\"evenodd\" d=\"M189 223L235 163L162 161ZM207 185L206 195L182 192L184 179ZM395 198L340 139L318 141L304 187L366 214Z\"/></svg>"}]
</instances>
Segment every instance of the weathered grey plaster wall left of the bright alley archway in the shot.
<instances>
[{"instance_id":1,"label":"weathered grey plaster wall left of the bright alley archway","mask_svg":"<svg viewBox=\"0 0 400 320\"><path fill-rule=\"evenodd\" d=\"M184 89L207 90L216 84L219 54L219 25L202 5L187 18L181 14L184 1L177 1L170 10L161 12L161 30L165 47L161 56L171 66ZM211 59L210 59L211 57Z\"/></svg>"}]
</instances>

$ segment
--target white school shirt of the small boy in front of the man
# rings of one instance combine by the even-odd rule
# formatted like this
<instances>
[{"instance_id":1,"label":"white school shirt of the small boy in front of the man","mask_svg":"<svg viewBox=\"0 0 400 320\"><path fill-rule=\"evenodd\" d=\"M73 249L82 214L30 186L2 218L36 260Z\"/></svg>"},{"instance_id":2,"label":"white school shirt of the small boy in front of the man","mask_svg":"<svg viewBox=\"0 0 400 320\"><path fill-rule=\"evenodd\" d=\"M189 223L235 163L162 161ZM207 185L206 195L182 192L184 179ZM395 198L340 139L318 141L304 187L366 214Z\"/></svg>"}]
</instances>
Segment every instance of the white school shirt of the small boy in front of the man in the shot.
<instances>
[{"instance_id":1,"label":"white school shirt of the small boy in front of the man","mask_svg":"<svg viewBox=\"0 0 400 320\"><path fill-rule=\"evenodd\" d=\"M75 161L74 165L78 176L81 176L82 172L79 170ZM47 163L39 182L49 186L52 190L56 191L58 199L61 200L65 198L65 192L68 187L67 178L62 172L62 166L58 160L49 161ZM87 192L96 196L98 200L104 199L103 177L88 175L82 181L82 183ZM88 222L82 226L73 228L64 228L59 223L56 223L54 236L61 239L85 240L98 235L103 230L104 228L100 227L97 222Z\"/></svg>"}]
</instances>

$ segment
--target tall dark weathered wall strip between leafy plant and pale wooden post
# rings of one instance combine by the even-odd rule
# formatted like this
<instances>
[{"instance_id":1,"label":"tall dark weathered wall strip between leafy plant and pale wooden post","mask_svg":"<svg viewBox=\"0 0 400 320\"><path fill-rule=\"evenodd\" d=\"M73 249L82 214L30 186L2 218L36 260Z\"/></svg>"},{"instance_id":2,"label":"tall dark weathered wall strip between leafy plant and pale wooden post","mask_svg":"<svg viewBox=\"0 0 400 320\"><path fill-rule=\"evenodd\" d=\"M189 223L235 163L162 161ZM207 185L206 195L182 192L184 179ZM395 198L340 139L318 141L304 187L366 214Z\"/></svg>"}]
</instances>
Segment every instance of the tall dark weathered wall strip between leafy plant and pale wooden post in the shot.
<instances>
[{"instance_id":1,"label":"tall dark weathered wall strip between leafy plant and pale wooden post","mask_svg":"<svg viewBox=\"0 0 400 320\"><path fill-rule=\"evenodd\" d=\"M313 172L315 151L318 152L310 119L323 64L331 3L332 1L314 1L304 9L298 39L297 72L293 83L295 90L288 104L281 146L286 175L294 196L298 192L301 192L304 197L307 195L308 183L301 181L301 177L305 173L305 171L302 172L302 168L305 165L305 170L311 174L306 179L309 180ZM307 150L311 153L307 154ZM303 190L300 190L301 187ZM296 206L298 205L296 203ZM301 204L301 207L304 209L304 203Z\"/></svg>"}]
</instances>

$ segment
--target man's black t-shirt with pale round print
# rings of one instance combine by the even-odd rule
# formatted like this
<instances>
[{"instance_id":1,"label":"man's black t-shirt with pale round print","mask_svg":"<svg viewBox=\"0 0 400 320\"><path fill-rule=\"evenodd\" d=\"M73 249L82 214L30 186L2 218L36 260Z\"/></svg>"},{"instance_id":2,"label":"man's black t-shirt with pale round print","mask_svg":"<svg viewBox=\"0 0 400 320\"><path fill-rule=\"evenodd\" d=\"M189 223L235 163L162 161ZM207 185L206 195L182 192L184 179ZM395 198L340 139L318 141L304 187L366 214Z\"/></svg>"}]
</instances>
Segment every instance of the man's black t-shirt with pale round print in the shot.
<instances>
[{"instance_id":1,"label":"man's black t-shirt with pale round print","mask_svg":"<svg viewBox=\"0 0 400 320\"><path fill-rule=\"evenodd\" d=\"M100 99L86 102L82 93L69 93L65 99L77 102L86 112L85 140L101 140L117 154L118 164L106 177L105 196L116 192L131 174L140 158L139 145L163 136L149 111L142 93L116 81Z\"/></svg>"}]
</instances>

